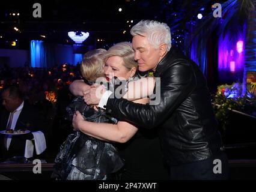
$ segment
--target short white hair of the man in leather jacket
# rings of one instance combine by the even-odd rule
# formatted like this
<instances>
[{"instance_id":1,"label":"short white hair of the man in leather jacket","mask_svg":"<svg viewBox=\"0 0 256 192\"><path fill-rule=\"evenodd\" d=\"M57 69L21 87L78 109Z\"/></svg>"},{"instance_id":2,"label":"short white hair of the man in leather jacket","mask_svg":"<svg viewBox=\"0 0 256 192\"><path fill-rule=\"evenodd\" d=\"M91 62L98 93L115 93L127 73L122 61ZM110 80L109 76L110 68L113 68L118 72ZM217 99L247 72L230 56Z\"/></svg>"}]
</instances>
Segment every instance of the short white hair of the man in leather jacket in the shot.
<instances>
[{"instance_id":1,"label":"short white hair of the man in leather jacket","mask_svg":"<svg viewBox=\"0 0 256 192\"><path fill-rule=\"evenodd\" d=\"M171 32L166 23L160 23L155 20L141 20L130 29L130 34L134 37L140 35L145 37L147 35L148 41L155 48L160 44L167 44L167 51L171 49Z\"/></svg>"}]
</instances>

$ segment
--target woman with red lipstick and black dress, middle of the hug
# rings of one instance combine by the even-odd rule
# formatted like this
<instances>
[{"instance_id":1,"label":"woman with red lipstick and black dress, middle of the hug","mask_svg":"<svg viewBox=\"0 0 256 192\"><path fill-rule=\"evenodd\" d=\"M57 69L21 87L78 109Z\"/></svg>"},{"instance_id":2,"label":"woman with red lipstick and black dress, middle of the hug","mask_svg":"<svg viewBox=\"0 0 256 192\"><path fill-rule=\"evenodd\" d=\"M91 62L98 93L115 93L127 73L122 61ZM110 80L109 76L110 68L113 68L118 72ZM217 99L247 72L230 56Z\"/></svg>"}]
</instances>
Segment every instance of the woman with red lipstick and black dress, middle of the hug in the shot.
<instances>
[{"instance_id":1,"label":"woman with red lipstick and black dress, middle of the hug","mask_svg":"<svg viewBox=\"0 0 256 192\"><path fill-rule=\"evenodd\" d=\"M136 74L137 68L138 64L134 61L134 52L130 43L115 44L105 55L104 73L106 79L111 80L114 76L123 77L126 80L130 79L127 85L128 92L124 95L124 98L133 100L135 103L146 104L148 103L147 96L153 94L154 78L131 80L131 77L138 77L138 74ZM141 85L144 85L144 89L138 91ZM79 80L70 86L70 91L78 95L83 95L87 89L88 85ZM138 98L144 99L136 100ZM78 125L77 122L81 124ZM79 113L75 115L73 123L75 123L75 128L90 136L124 143L120 145L120 154L125 160L121 179L167 178L156 130L139 131L137 133L138 128L128 122L119 121L118 124L89 122L81 119Z\"/></svg>"}]
</instances>

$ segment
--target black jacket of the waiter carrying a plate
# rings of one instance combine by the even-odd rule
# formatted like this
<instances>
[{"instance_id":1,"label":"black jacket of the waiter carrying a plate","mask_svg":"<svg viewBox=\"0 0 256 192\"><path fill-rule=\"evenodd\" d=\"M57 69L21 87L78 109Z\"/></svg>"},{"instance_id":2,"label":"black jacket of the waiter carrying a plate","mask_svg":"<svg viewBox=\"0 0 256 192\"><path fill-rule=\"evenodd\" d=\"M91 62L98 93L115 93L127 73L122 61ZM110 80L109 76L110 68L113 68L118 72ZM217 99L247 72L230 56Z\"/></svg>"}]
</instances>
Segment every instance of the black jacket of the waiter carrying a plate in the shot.
<instances>
[{"instance_id":1,"label":"black jacket of the waiter carrying a plate","mask_svg":"<svg viewBox=\"0 0 256 192\"><path fill-rule=\"evenodd\" d=\"M4 130L7 126L8 118L10 112L3 109L0 113L0 128ZM43 131L43 121L38 113L38 111L30 106L26 101L24 101L24 106L20 112L19 118L17 119L16 126L14 130L27 129L29 131ZM32 139L32 133L23 134L19 136L13 136L8 151L5 149L2 142L4 141L4 134L1 134L1 153L2 159L10 158L13 156L23 156L25 152L26 139ZM34 153L35 154L35 153Z\"/></svg>"}]
</instances>

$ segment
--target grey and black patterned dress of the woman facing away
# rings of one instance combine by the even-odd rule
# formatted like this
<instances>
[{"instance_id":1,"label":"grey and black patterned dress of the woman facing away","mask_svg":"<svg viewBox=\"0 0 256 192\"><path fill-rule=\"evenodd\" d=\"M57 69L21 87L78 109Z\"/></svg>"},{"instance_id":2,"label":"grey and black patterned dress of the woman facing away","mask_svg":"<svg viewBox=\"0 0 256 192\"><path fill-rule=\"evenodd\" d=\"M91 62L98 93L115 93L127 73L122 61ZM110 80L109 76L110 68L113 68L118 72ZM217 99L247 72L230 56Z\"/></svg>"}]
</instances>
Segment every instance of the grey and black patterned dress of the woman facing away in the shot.
<instances>
[{"instance_id":1,"label":"grey and black patterned dress of the woman facing away","mask_svg":"<svg viewBox=\"0 0 256 192\"><path fill-rule=\"evenodd\" d=\"M117 119L108 116L105 111L96 111L88 106L83 97L76 97L67 107L67 119L72 120L76 110L79 110L87 121L117 124ZM61 145L55 158L52 178L63 180L110 179L111 173L117 172L124 165L114 144L75 131Z\"/></svg>"}]
</instances>

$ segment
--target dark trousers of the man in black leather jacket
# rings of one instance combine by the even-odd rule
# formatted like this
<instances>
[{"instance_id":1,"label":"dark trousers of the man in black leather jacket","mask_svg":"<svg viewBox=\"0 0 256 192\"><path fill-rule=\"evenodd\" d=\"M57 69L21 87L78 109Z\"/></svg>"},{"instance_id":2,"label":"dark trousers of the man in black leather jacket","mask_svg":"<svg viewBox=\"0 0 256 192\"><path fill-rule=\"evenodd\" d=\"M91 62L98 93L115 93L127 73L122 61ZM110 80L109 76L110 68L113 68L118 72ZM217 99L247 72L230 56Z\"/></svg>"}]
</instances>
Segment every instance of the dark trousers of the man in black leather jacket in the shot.
<instances>
[{"instance_id":1,"label":"dark trousers of the man in black leather jacket","mask_svg":"<svg viewBox=\"0 0 256 192\"><path fill-rule=\"evenodd\" d=\"M171 180L225 180L229 178L228 158L225 152L193 163L169 167Z\"/></svg>"}]
</instances>

